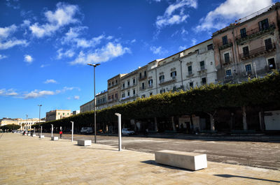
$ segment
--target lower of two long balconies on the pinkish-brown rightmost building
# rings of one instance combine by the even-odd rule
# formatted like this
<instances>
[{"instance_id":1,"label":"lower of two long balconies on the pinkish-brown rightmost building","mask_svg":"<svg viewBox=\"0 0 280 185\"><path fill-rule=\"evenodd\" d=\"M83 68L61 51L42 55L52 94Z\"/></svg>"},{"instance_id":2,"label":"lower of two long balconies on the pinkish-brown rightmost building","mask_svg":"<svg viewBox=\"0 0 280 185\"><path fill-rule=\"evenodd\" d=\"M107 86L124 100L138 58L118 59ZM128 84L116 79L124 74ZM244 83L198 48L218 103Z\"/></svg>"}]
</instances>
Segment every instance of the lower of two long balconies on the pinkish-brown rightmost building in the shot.
<instances>
[{"instance_id":1,"label":"lower of two long balconies on the pinkish-brown rightmost building","mask_svg":"<svg viewBox=\"0 0 280 185\"><path fill-rule=\"evenodd\" d=\"M241 60L251 59L253 57L258 57L262 54L267 54L268 52L273 52L275 49L276 49L275 44L262 46L262 47L258 47L255 50L251 50L248 53L239 54L239 58Z\"/></svg>"}]
</instances>

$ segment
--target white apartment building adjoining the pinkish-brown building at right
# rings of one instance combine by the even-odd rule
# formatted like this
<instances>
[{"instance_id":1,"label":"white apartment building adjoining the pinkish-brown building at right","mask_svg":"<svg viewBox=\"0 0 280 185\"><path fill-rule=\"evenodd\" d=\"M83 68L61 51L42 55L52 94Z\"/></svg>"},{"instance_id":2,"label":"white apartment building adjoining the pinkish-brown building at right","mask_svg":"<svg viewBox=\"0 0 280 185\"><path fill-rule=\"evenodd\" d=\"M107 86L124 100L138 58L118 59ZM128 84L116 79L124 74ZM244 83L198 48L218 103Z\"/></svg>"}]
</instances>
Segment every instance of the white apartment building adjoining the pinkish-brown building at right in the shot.
<instances>
[{"instance_id":1,"label":"white apartment building adjoining the pinkish-brown building at right","mask_svg":"<svg viewBox=\"0 0 280 185\"><path fill-rule=\"evenodd\" d=\"M216 83L212 39L165 59L151 61L147 71L146 82L142 82L145 89L139 91L139 96L142 98Z\"/></svg>"}]
</instances>

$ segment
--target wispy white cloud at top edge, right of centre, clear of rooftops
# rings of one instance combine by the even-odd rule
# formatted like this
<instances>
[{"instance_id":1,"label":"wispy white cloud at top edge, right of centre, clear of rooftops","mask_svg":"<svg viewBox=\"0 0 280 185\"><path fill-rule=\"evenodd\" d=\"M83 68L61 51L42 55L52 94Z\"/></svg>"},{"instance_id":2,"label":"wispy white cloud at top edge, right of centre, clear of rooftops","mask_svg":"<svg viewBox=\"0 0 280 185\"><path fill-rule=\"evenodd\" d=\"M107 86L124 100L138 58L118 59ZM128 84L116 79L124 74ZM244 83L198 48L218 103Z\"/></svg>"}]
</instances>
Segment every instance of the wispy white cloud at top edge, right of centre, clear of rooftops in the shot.
<instances>
[{"instance_id":1,"label":"wispy white cloud at top edge, right of centre, clear of rooftops","mask_svg":"<svg viewBox=\"0 0 280 185\"><path fill-rule=\"evenodd\" d=\"M165 14L157 17L155 24L158 29L162 29L168 25L185 22L189 17L189 15L184 13L185 7L197 8L197 0L176 0L175 3L169 5L165 10Z\"/></svg>"}]
</instances>

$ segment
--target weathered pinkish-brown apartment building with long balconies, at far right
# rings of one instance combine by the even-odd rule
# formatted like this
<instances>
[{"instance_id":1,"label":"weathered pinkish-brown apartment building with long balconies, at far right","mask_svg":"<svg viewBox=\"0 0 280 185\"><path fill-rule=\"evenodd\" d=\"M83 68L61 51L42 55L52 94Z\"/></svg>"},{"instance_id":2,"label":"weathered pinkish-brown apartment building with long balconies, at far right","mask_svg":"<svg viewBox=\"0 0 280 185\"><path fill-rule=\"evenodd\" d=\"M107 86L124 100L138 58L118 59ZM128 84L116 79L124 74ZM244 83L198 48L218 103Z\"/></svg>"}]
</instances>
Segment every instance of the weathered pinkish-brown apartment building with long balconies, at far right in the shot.
<instances>
[{"instance_id":1,"label":"weathered pinkish-brown apartment building with long balconies, at far right","mask_svg":"<svg viewBox=\"0 0 280 185\"><path fill-rule=\"evenodd\" d=\"M216 31L212 38L218 80L241 82L280 67L280 3Z\"/></svg>"}]
</instances>

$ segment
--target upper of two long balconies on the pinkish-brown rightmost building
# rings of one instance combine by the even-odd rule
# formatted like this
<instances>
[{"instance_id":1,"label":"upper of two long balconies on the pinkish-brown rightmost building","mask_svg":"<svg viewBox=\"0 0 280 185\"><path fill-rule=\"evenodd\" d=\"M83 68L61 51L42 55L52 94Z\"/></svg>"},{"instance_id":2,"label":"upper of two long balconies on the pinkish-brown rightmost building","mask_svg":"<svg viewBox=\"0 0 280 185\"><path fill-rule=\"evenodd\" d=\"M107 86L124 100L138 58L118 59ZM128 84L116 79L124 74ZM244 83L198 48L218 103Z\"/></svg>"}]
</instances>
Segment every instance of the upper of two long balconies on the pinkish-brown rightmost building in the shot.
<instances>
[{"instance_id":1,"label":"upper of two long balconies on the pinkish-brown rightmost building","mask_svg":"<svg viewBox=\"0 0 280 185\"><path fill-rule=\"evenodd\" d=\"M239 36L236 36L235 39L237 41L237 45L241 45L248 40L252 40L255 38L259 38L265 34L273 34L275 29L274 22L272 24L269 24L269 27L267 29L260 30L259 28L252 29L251 31L246 31L246 34L240 34Z\"/></svg>"}]
</instances>

